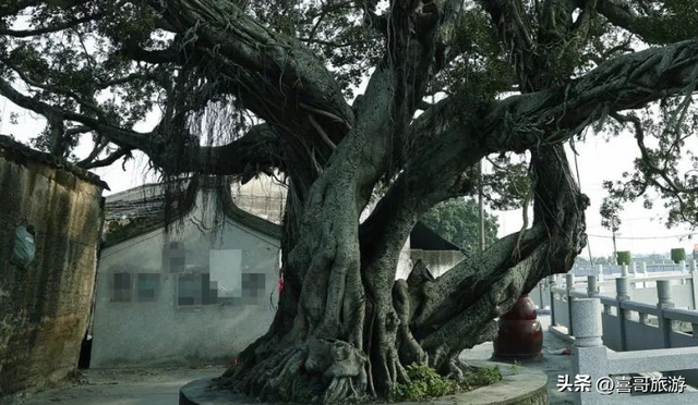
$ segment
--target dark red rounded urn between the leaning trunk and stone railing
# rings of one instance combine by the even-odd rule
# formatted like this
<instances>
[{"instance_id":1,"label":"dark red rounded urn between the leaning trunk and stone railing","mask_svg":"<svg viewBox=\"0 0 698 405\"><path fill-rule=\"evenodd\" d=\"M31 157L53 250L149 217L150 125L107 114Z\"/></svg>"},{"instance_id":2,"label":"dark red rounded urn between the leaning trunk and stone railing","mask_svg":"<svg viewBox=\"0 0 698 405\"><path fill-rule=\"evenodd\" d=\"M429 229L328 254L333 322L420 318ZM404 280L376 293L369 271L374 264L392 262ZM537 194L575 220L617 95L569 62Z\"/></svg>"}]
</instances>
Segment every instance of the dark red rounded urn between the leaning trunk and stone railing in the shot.
<instances>
[{"instance_id":1,"label":"dark red rounded urn between the leaning trunk and stone railing","mask_svg":"<svg viewBox=\"0 0 698 405\"><path fill-rule=\"evenodd\" d=\"M530 360L541 356L543 329L535 317L535 305L524 294L512 310L500 317L494 356L503 360Z\"/></svg>"}]
</instances>

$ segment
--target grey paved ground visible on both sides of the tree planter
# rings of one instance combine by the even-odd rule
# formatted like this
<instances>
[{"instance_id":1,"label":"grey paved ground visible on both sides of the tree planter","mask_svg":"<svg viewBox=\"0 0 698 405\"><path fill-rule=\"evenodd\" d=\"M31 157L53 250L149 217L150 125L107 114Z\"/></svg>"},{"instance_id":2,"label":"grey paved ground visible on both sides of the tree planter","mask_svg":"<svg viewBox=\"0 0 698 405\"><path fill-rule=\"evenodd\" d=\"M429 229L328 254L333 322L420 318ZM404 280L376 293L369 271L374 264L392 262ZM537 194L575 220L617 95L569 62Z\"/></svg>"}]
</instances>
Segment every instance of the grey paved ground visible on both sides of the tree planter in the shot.
<instances>
[{"instance_id":1,"label":"grey paved ground visible on both sides of the tree planter","mask_svg":"<svg viewBox=\"0 0 698 405\"><path fill-rule=\"evenodd\" d=\"M547 393L552 405L571 404L569 393L558 393L557 376L571 376L570 356L552 354L568 347L559 338L547 332L550 316L539 316L545 331L542 360L525 363L524 367L547 375ZM461 354L462 360L485 360L492 356L492 343L483 343ZM208 368L132 368L91 369L62 386L2 402L0 405L177 405L179 388L192 380L217 377L225 367ZM574 377L571 377L574 378Z\"/></svg>"}]
</instances>

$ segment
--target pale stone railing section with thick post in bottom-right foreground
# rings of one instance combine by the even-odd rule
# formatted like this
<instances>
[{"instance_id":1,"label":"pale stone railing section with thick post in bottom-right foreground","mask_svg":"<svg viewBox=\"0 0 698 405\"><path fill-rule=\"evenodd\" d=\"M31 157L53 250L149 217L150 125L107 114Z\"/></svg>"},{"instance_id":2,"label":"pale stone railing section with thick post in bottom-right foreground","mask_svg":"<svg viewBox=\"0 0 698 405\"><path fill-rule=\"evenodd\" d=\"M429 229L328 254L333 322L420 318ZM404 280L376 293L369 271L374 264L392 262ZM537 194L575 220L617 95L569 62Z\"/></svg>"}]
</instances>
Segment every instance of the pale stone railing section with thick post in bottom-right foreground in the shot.
<instances>
[{"instance_id":1,"label":"pale stone railing section with thick post in bottom-right foreground","mask_svg":"<svg viewBox=\"0 0 698 405\"><path fill-rule=\"evenodd\" d=\"M669 290L669 283L660 282L662 294ZM663 296L666 300L666 296ZM574 391L576 405L595 404L652 404L652 405L676 405L676 404L698 404L697 392L676 391L675 393L652 394L661 390L643 390L649 394L637 395L636 390L630 390L629 383L624 384L621 392L621 384L599 384L599 381L634 381L618 376L637 376L645 372L681 370L698 367L698 347L663 348L650 351L635 351L617 353L604 346L606 328L602 319L601 304L603 298L573 298L571 300L571 324L575 331L574 346L574 373L577 383ZM617 302L621 312L624 310L654 311L661 316L667 308L654 308L633 306L625 309L621 302ZM671 304L665 302L660 305ZM606 304L604 304L605 306ZM605 311L604 311L605 314ZM673 314L671 310L666 314ZM678 314L678 312L675 312ZM685 315L685 314L684 314ZM664 318L672 319L672 318ZM688 319L688 318L684 318ZM690 318L698 320L698 318ZM665 327L658 328L662 333L667 332ZM671 342L665 340L663 342ZM682 375L678 372L678 375ZM612 380L610 376L616 379ZM603 389L603 390L602 390ZM630 392L636 395L630 395Z\"/></svg>"}]
</instances>

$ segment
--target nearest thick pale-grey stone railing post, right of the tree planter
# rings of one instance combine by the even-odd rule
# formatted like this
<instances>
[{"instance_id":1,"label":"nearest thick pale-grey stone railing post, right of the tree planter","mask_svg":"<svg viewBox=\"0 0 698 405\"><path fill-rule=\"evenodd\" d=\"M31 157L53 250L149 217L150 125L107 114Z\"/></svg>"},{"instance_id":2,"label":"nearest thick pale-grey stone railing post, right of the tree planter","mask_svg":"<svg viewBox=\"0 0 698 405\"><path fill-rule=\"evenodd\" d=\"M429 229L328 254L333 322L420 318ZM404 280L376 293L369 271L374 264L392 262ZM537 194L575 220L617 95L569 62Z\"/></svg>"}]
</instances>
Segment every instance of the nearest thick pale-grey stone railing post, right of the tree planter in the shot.
<instances>
[{"instance_id":1,"label":"nearest thick pale-grey stone railing post, right of the tree planter","mask_svg":"<svg viewBox=\"0 0 698 405\"><path fill-rule=\"evenodd\" d=\"M599 298L579 298L573 302L571 322L575 324L574 375L589 376L592 385L588 392L575 392L576 405L603 404L593 383L609 376L607 349L601 340L601 303ZM575 378L574 376L570 376Z\"/></svg>"}]
</instances>

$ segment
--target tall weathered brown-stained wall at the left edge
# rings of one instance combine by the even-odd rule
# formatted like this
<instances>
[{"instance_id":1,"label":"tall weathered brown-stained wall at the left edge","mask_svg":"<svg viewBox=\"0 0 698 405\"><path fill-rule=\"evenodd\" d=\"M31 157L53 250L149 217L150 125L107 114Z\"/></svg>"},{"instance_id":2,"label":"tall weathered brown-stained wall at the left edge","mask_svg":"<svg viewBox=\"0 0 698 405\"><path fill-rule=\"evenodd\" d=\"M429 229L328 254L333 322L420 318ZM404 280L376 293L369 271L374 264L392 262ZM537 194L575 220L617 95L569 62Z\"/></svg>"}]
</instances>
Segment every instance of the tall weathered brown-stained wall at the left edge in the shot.
<instances>
[{"instance_id":1,"label":"tall weathered brown-stained wall at the left edge","mask_svg":"<svg viewBox=\"0 0 698 405\"><path fill-rule=\"evenodd\" d=\"M92 303L103 185L0 139L0 395L40 389L77 366ZM17 226L36 258L11 263Z\"/></svg>"}]
</instances>

